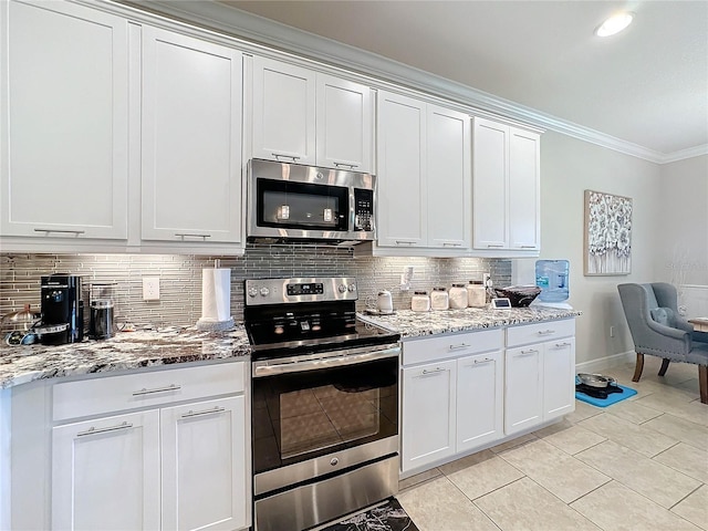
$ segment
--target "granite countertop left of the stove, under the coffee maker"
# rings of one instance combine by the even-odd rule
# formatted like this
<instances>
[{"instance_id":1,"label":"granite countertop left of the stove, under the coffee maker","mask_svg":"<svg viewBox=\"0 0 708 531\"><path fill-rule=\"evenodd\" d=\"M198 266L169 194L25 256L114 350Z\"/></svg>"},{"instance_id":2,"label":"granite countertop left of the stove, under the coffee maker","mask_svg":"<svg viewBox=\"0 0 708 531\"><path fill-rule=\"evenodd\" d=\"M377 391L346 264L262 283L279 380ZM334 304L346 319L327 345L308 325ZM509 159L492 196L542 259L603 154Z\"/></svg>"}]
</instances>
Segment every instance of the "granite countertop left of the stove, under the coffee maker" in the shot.
<instances>
[{"instance_id":1,"label":"granite countertop left of the stove, under the coffee maker","mask_svg":"<svg viewBox=\"0 0 708 531\"><path fill-rule=\"evenodd\" d=\"M248 357L246 330L201 332L195 327L118 332L104 341L66 345L0 346L0 388L35 379L107 373L206 360Z\"/></svg>"}]
</instances>

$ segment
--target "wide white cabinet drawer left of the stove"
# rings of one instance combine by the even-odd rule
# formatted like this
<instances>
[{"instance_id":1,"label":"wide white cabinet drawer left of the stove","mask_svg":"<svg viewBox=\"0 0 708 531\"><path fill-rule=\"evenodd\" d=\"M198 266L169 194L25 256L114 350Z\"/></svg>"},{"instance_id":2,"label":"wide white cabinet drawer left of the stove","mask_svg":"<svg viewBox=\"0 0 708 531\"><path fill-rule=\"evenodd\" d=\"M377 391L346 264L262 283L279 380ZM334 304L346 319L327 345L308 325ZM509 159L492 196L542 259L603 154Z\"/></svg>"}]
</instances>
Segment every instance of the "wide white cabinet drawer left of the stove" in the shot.
<instances>
[{"instance_id":1,"label":"wide white cabinet drawer left of the stove","mask_svg":"<svg viewBox=\"0 0 708 531\"><path fill-rule=\"evenodd\" d=\"M241 393L243 377L243 362L235 362L56 384L52 418L58 421Z\"/></svg>"}]
</instances>

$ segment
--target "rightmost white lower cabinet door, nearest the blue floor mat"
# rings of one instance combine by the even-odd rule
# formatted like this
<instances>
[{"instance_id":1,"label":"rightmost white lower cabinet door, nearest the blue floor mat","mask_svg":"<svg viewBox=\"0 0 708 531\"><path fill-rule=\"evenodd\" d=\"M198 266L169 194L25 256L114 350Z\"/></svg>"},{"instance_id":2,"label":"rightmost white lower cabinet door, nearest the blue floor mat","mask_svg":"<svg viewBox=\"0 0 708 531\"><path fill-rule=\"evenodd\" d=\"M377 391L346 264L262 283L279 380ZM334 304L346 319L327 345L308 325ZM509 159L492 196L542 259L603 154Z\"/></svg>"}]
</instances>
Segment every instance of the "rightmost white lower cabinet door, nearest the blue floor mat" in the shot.
<instances>
[{"instance_id":1,"label":"rightmost white lower cabinet door, nearest the blue floor mat","mask_svg":"<svg viewBox=\"0 0 708 531\"><path fill-rule=\"evenodd\" d=\"M543 420L575 410L575 339L544 344Z\"/></svg>"}]
</instances>

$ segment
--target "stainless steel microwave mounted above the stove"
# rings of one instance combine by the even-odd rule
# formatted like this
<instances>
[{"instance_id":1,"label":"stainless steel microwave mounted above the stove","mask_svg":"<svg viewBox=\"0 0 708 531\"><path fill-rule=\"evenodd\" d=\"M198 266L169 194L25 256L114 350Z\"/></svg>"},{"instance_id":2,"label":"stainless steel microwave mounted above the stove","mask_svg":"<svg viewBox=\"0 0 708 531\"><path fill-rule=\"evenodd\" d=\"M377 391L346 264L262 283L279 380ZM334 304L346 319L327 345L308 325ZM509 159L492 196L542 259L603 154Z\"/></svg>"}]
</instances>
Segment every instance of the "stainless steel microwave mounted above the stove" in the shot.
<instances>
[{"instance_id":1,"label":"stainless steel microwave mounted above the stove","mask_svg":"<svg viewBox=\"0 0 708 531\"><path fill-rule=\"evenodd\" d=\"M247 237L361 242L375 238L376 177L253 158Z\"/></svg>"}]
</instances>

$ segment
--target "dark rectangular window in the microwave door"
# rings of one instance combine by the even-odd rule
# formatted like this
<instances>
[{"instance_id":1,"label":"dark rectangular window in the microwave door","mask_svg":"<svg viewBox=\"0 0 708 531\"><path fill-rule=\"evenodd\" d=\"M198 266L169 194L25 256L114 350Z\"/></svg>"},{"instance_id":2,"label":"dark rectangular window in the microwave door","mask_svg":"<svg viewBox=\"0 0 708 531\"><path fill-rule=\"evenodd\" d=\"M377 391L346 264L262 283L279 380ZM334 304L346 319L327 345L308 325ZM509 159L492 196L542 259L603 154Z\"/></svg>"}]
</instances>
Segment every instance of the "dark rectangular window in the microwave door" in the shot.
<instances>
[{"instance_id":1,"label":"dark rectangular window in the microwave door","mask_svg":"<svg viewBox=\"0 0 708 531\"><path fill-rule=\"evenodd\" d=\"M348 230L348 188L270 179L257 186L261 227Z\"/></svg>"}]
</instances>

